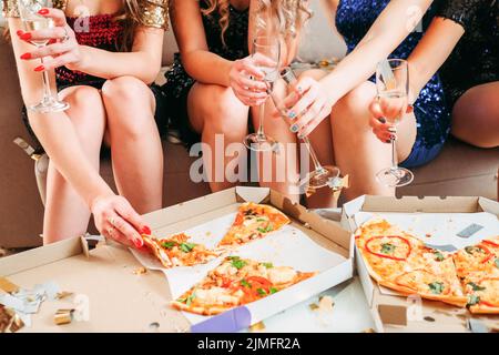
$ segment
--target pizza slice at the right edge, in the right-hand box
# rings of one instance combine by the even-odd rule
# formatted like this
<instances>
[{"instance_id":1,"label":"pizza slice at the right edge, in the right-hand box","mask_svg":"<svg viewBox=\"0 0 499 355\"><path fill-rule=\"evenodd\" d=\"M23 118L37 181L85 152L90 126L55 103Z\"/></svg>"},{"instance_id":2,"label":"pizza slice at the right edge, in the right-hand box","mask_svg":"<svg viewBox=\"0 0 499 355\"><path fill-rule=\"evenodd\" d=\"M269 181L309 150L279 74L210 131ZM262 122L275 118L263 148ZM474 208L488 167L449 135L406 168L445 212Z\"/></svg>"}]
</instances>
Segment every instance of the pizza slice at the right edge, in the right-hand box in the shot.
<instances>
[{"instance_id":1,"label":"pizza slice at the right edge, in the right-hand box","mask_svg":"<svg viewBox=\"0 0 499 355\"><path fill-rule=\"evenodd\" d=\"M499 314L499 236L454 255L471 313Z\"/></svg>"}]
</instances>

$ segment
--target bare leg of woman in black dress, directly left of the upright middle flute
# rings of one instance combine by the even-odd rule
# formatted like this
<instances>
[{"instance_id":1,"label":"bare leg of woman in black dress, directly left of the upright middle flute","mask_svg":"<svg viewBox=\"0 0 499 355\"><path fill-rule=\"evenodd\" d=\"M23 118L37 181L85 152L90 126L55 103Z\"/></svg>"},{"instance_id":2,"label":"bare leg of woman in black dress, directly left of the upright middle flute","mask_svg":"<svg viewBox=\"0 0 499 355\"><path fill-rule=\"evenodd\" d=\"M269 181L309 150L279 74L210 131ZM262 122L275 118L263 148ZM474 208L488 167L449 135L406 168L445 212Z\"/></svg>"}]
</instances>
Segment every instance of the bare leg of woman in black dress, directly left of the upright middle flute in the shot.
<instances>
[{"instance_id":1,"label":"bare leg of woman in black dress, directly left of the upright middle flute","mask_svg":"<svg viewBox=\"0 0 499 355\"><path fill-rule=\"evenodd\" d=\"M210 187L216 192L234 186L235 182L227 181L225 170L228 163L235 162L238 166L247 163L243 140L247 132L248 108L231 88L195 83L189 93L187 112L192 128L201 133L204 143L203 161ZM216 146L216 140L221 142L220 146ZM237 155L225 156L225 149L232 143L238 144ZM211 151L204 148L205 144Z\"/></svg>"}]
</instances>

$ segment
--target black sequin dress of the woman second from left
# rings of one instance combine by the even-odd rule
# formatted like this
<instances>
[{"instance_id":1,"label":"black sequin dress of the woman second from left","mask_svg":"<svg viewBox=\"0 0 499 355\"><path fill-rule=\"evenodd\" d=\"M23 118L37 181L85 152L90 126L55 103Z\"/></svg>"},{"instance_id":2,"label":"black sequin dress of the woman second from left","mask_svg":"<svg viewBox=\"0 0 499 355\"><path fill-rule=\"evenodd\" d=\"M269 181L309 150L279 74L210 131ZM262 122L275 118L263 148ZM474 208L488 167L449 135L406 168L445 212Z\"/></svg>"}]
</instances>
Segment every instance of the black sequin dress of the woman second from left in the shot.
<instances>
[{"instance_id":1,"label":"black sequin dress of the woman second from left","mask_svg":"<svg viewBox=\"0 0 499 355\"><path fill-rule=\"evenodd\" d=\"M206 1L200 1L202 9L207 9ZM247 57L247 28L248 9L238 11L230 6L228 28L224 33L225 44L222 41L222 29L220 27L220 16L215 10L210 16L203 14L203 26L206 33L206 43L210 52L227 60L237 60ZM195 80L191 78L182 64L180 53L175 54L172 69L166 72L166 84L163 92L170 112L172 126L179 129L181 139L186 145L192 145L200 141L200 135L192 130L187 115L187 95Z\"/></svg>"}]
</instances>

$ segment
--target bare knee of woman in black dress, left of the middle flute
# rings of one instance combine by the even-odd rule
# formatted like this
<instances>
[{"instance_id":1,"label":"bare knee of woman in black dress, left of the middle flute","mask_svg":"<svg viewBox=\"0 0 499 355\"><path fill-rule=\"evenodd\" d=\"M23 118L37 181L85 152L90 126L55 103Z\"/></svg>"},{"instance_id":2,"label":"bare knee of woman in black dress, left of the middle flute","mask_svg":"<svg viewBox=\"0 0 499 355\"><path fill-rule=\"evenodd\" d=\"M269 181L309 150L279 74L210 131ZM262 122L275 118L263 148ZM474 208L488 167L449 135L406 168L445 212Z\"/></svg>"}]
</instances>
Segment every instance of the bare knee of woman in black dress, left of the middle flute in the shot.
<instances>
[{"instance_id":1,"label":"bare knee of woman in black dress, left of the middle flute","mask_svg":"<svg viewBox=\"0 0 499 355\"><path fill-rule=\"evenodd\" d=\"M205 128L220 133L235 133L247 128L248 109L231 88L211 85L210 94L201 103Z\"/></svg>"}]
</instances>

